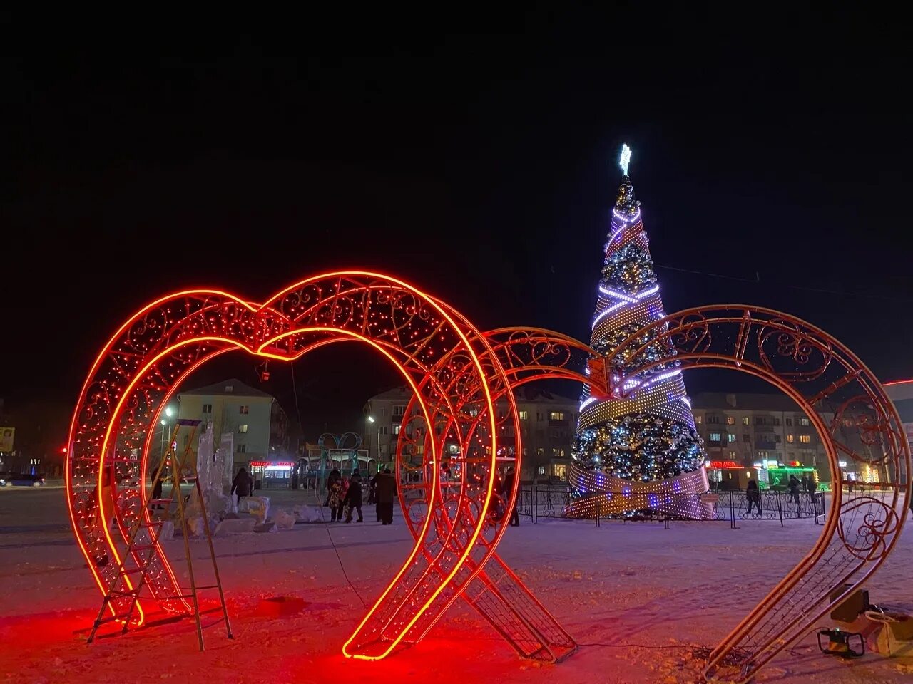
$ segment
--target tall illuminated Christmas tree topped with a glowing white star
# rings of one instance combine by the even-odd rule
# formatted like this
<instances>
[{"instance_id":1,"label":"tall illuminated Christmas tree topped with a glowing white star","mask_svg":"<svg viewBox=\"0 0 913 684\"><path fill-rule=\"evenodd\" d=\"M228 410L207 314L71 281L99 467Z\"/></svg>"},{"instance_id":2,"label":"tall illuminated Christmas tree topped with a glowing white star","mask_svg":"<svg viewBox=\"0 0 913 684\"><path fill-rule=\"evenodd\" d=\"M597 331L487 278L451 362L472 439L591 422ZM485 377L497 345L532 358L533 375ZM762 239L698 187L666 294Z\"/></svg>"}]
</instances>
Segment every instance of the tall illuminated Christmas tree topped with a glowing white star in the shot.
<instances>
[{"instance_id":1,"label":"tall illuminated Christmas tree topped with a glowing white star","mask_svg":"<svg viewBox=\"0 0 913 684\"><path fill-rule=\"evenodd\" d=\"M666 315L641 221L640 202L627 175L631 150L624 145L621 187L605 244L591 346L609 354L644 326ZM704 449L674 348L649 334L636 340L636 357L614 368L631 378L624 399L599 399L583 388L580 420L572 452L571 503L576 517L631 515L663 511L703 517L697 497L707 492ZM661 361L643 373L637 368ZM632 374L633 373L633 374ZM632 388L633 384L633 388Z\"/></svg>"}]
</instances>

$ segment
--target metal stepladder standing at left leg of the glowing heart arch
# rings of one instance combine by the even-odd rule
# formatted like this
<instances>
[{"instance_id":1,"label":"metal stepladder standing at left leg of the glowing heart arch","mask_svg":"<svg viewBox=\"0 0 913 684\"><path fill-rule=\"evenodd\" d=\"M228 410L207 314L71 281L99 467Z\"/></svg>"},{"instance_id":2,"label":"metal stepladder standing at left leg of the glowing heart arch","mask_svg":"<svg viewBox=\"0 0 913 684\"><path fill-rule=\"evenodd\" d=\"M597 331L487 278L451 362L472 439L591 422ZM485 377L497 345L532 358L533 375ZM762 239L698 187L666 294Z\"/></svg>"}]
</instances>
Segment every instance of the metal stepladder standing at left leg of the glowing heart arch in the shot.
<instances>
[{"instance_id":1,"label":"metal stepladder standing at left leg of the glowing heart arch","mask_svg":"<svg viewBox=\"0 0 913 684\"><path fill-rule=\"evenodd\" d=\"M200 644L200 650L205 650L205 644L203 640L203 624L201 621L200 614L200 604L199 604L199 591L203 589L218 589L219 595L219 609L222 611L222 618L225 621L226 625L226 636L228 638L234 638L231 631L231 622L228 618L228 609L226 606L225 592L222 589L222 580L219 577L219 568L218 564L215 561L215 548L213 547L213 535L212 531L209 528L209 516L206 514L206 504L203 496L202 489L200 487L200 479L196 470L196 459L193 456L193 452L190 449L190 445L193 444L194 434L196 433L196 428L200 424L200 420L186 420L178 419L175 422L174 429L171 435L171 440L168 442L168 449L162 455L162 459L159 462L158 468L155 470L155 473L152 475L153 486L155 482L159 482L164 478L167 468L166 465L171 463L171 475L172 475L172 489L171 493L167 498L162 499L147 499L142 502L142 511L146 511L150 506L161 506L165 505L166 513L170 510L171 504L176 503L177 505L177 519L181 522L181 532L184 537L184 557L187 561L187 575L190 579L190 587L187 593L184 593L182 587L182 593L177 596L162 596L159 597L160 601L163 600L174 600L178 599L184 601L184 599L193 600L193 613L194 620L196 622L196 636ZM190 435L187 440L187 447L184 449L184 454L182 457L178 457L176 451L174 450L174 445L177 443L177 435L182 427L191 428ZM189 474L184 474L185 471L189 471ZM142 474L141 474L142 477ZM203 517L203 527L205 531L206 544L209 547L209 557L213 564L213 572L215 575L215 584L207 586L197 586L196 580L194 578L194 562L191 557L190 551L190 528L187 523L187 517L184 511L184 496L181 494L181 484L184 482L193 482L194 488L197 496L197 500L200 504L200 513ZM187 497L190 498L190 495ZM95 638L96 632L99 627L109 622L122 622L123 628L121 629L121 634L126 634L128 627L130 627L131 617L133 616L133 611L136 608L137 602L140 600L140 595L142 593L143 586L148 584L146 577L146 568L152 562L152 558L155 554L156 547L159 543L159 537L162 534L163 520L152 520L145 521L140 520L134 524L133 529L130 535L130 543L127 546L127 551L121 557L121 565L118 566L117 575L111 581L108 591L105 593L105 596L101 600L101 608L99 610L99 615L95 619L95 623L92 625L92 630L89 633L88 643L92 643L92 640ZM148 539L141 539L141 531L148 531ZM127 567L127 559L134 558L137 562L136 567ZM124 579L130 575L139 574L139 581L136 583L136 586L130 588L129 583L124 586ZM122 598L129 598L130 604L126 613L121 615L117 614L117 611L111 610L111 615L106 616L105 611L109 609L109 606L115 602L119 601ZM111 606L113 607L113 606ZM220 620L221 621L221 620ZM213 623L213 625L218 624L219 621ZM207 625L206 627L212 627L212 625Z\"/></svg>"}]
</instances>

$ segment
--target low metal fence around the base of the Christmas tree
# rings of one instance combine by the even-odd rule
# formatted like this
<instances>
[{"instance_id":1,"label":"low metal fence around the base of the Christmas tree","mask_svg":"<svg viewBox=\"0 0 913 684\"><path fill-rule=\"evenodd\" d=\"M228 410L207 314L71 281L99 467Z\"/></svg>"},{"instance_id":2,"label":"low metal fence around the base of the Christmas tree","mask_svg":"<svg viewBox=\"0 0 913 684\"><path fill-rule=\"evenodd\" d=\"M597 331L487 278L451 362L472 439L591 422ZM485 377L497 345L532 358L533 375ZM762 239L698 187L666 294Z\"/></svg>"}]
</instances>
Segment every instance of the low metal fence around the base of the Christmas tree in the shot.
<instances>
[{"instance_id":1,"label":"low metal fence around the base of the Christmas tree","mask_svg":"<svg viewBox=\"0 0 913 684\"><path fill-rule=\"evenodd\" d=\"M621 496L621 492L616 493ZM721 490L705 494L664 494L667 502L677 500L678 503L700 503L701 508L708 512L708 517L703 522L728 521L733 529L738 527L739 521L766 520L784 521L802 518L813 519L815 524L824 522L824 492L760 492L757 501L750 501L746 492L737 490ZM576 520L565 515L568 503L571 502L571 492L567 487L548 485L522 486L517 495L517 512L530 518L533 524L540 518L560 518ZM677 506L679 510L685 510ZM598 506L597 506L598 509ZM597 526L603 520L657 520L666 523L674 520L702 522L692 518L677 517L671 513L654 512L636 515L633 518L614 518L604 515L593 518Z\"/></svg>"}]
</instances>

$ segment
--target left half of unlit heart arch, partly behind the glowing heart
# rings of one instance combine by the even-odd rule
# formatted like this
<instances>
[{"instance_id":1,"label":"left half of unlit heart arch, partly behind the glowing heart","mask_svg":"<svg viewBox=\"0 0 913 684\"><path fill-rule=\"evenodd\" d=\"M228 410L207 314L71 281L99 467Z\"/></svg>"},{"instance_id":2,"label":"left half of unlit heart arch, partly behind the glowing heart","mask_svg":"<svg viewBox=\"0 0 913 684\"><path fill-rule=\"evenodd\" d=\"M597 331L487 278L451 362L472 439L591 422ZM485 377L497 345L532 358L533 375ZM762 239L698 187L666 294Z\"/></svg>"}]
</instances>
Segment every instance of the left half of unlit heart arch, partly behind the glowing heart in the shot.
<instances>
[{"instance_id":1,"label":"left half of unlit heart arch, partly behind the glowing heart","mask_svg":"<svg viewBox=\"0 0 913 684\"><path fill-rule=\"evenodd\" d=\"M582 354L579 365L584 368L588 367L593 358L599 358L599 354L592 347L584 345L573 337L538 327L498 328L486 332L485 337L491 347L491 356L481 357L480 360L483 364L490 364L492 359L499 362L509 378L509 383L498 387L492 395L496 404L501 399L509 399L508 410L498 416L498 427L503 427L511 417L516 417L513 391L528 382L548 378L570 379L588 384L595 383L598 391L603 393L605 391L598 374L593 374L593 379L591 379L589 374L581 373L570 365L574 360L572 358L574 352ZM456 384L460 379L460 376L456 375L452 381ZM464 401L457 407L458 412L464 417L464 420L472 420L474 425L480 425L485 418L484 412L479 411L473 415L467 411L466 403ZM427 461L424 460L419 468L407 466L404 451L407 449L418 451L415 447L419 445L419 442L421 442L423 451L428 450L431 448L432 442L436 441L437 451L443 454L444 442L447 440L452 426L443 425L443 429L437 435L439 439L433 439L432 435L437 430L429 430L428 426L438 425L438 417L435 416L432 423L426 422L423 416L416 413L415 404L415 397L413 397L410 399L400 423L399 439L396 445L396 471L406 473L414 470L423 471L422 482L416 485L405 485L407 490L419 490L419 498L410 503L405 496L400 497L404 519L410 532L417 539L421 526L425 524L427 513L426 511L417 512L416 504L420 505L435 500L446 502L449 496L446 491L448 483L437 478L436 486L439 491L428 492L427 482L433 482L436 473L427 472ZM414 425L414 423L417 424ZM514 428L519 442L519 424L515 424ZM415 439L411 439L411 433L415 433ZM460 451L464 454L467 453L467 445L460 442L460 446ZM518 444L517 450L515 455L522 455L521 443ZM444 459L445 457L442 455L441 460ZM519 468L519 458L508 457L502 460L513 462L515 467ZM447 461L459 462L462 459L448 457ZM434 484L431 486L434 487ZM516 477L513 489L511 492L506 492L506 499L498 495L499 501L496 505L499 505L502 513L507 513L511 505L516 502L518 488L519 477ZM428 509L430 509L430 504L428 504ZM502 514L499 518L492 516L490 523L502 526L507 517L506 514ZM559 662L572 655L577 648L574 639L531 594L530 590L523 586L517 575L509 569L498 554L493 554L488 565L480 570L473 586L463 594L463 597L521 657ZM428 625L427 628L430 627L431 625Z\"/></svg>"}]
</instances>

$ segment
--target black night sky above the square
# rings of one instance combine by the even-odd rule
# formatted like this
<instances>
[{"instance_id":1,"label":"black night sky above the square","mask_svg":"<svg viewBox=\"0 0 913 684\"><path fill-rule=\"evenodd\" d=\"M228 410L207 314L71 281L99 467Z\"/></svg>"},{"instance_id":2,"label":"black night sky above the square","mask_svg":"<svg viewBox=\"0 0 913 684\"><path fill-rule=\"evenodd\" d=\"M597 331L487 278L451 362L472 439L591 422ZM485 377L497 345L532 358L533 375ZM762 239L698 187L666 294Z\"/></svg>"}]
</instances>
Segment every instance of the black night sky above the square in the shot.
<instances>
[{"instance_id":1,"label":"black night sky above the square","mask_svg":"<svg viewBox=\"0 0 913 684\"><path fill-rule=\"evenodd\" d=\"M72 404L103 339L168 291L263 299L340 267L483 329L588 339L623 141L667 311L779 308L913 376L901 22L641 6L3 15L7 409ZM356 347L296 363L298 409L287 368L259 385L241 355L192 384L266 389L311 438L357 429L395 378ZM746 387L725 378L686 381Z\"/></svg>"}]
</instances>

